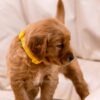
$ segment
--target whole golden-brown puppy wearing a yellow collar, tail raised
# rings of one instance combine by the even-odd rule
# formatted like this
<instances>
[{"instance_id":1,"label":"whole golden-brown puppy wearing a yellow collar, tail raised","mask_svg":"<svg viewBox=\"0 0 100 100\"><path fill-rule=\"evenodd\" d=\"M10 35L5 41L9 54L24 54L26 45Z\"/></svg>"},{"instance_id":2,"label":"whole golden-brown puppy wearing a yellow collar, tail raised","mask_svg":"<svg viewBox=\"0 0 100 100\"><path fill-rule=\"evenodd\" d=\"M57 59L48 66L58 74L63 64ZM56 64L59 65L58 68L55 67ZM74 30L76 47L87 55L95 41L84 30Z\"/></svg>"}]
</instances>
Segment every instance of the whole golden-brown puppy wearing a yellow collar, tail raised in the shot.
<instances>
[{"instance_id":1,"label":"whole golden-brown puppy wearing a yellow collar, tail raised","mask_svg":"<svg viewBox=\"0 0 100 100\"><path fill-rule=\"evenodd\" d=\"M58 74L72 80L81 100L89 94L64 25L64 6L58 1L56 18L28 25L10 46L7 65L15 100L53 100Z\"/></svg>"}]
</instances>

